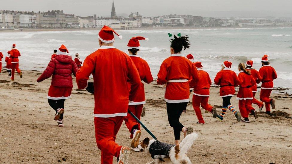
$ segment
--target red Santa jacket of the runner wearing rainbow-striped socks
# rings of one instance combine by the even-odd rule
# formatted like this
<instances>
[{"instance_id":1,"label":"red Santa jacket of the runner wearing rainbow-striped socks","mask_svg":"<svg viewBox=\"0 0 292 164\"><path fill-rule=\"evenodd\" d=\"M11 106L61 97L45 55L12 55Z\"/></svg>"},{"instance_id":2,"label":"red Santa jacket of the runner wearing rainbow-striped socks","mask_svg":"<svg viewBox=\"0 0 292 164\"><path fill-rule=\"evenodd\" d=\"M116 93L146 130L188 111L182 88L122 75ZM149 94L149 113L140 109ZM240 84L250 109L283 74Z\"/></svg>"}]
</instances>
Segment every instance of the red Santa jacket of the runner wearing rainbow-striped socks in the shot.
<instances>
[{"instance_id":1,"label":"red Santa jacket of the runner wearing rainbow-striped socks","mask_svg":"<svg viewBox=\"0 0 292 164\"><path fill-rule=\"evenodd\" d=\"M224 68L217 73L214 82L220 85L220 97L226 97L235 94L234 87L238 86L239 79L230 68Z\"/></svg>"}]
</instances>

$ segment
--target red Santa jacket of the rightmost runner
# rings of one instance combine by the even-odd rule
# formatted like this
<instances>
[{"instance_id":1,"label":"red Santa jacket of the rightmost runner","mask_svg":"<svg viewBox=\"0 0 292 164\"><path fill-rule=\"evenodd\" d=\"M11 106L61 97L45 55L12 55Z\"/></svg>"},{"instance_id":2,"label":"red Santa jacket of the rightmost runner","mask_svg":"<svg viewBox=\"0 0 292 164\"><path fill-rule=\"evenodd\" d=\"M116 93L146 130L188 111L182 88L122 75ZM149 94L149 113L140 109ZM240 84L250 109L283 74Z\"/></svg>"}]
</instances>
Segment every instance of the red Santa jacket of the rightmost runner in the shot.
<instances>
[{"instance_id":1,"label":"red Santa jacket of the rightmost runner","mask_svg":"<svg viewBox=\"0 0 292 164\"><path fill-rule=\"evenodd\" d=\"M273 89L273 80L277 79L276 70L270 65L263 65L258 72L263 78L261 80L261 89Z\"/></svg>"}]
</instances>

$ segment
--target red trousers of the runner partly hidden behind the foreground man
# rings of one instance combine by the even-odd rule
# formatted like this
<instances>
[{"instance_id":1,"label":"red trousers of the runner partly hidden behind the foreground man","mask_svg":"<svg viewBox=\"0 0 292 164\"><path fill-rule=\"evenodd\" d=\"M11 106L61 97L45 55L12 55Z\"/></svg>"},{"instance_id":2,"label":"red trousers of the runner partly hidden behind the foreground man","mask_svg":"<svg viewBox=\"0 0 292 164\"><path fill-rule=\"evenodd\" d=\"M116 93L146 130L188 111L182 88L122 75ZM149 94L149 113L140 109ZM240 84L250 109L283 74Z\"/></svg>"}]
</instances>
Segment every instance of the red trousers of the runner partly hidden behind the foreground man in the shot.
<instances>
[{"instance_id":1,"label":"red trousers of the runner partly hidden behind the foreground man","mask_svg":"<svg viewBox=\"0 0 292 164\"><path fill-rule=\"evenodd\" d=\"M141 114L142 114L142 109L143 109L143 104L129 105L129 109L140 120ZM129 131L131 133L130 138L133 138L133 134L132 134L133 128L141 130L139 122L136 119L134 119L134 117L131 116L129 113L125 117L125 122L126 122L127 128L129 129Z\"/></svg>"}]
</instances>

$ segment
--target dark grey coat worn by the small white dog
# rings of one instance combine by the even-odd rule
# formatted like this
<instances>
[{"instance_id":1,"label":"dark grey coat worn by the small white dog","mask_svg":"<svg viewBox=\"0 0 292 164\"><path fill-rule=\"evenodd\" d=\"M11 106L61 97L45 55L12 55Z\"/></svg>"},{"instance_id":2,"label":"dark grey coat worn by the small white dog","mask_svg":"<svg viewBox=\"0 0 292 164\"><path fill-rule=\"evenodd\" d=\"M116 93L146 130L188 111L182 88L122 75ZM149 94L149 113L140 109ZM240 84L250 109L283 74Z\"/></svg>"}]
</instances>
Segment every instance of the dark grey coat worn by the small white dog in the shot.
<instances>
[{"instance_id":1,"label":"dark grey coat worn by the small white dog","mask_svg":"<svg viewBox=\"0 0 292 164\"><path fill-rule=\"evenodd\" d=\"M165 158L175 145L155 141L150 145L149 152L153 159Z\"/></svg>"}]
</instances>

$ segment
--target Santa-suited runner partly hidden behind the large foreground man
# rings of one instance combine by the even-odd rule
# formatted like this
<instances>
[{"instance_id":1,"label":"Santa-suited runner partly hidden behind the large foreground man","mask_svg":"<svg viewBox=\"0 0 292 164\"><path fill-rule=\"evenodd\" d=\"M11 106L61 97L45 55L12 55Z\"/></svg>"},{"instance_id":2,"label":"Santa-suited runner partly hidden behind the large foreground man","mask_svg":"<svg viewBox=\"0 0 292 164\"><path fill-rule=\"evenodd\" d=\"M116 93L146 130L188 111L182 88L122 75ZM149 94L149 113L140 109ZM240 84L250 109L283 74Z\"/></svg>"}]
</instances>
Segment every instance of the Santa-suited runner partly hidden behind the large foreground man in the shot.
<instances>
[{"instance_id":1,"label":"Santa-suited runner partly hidden behind the large foreground man","mask_svg":"<svg viewBox=\"0 0 292 164\"><path fill-rule=\"evenodd\" d=\"M148 38L144 38L142 36L136 36L130 39L128 43L128 51L129 56L134 62L140 76L140 80L144 81L147 84L150 84L150 82L153 81L153 77L150 71L150 67L146 60L142 59L141 56L138 56L138 51L140 50L140 43L139 40L145 40L148 41ZM130 88L130 83L129 88ZM145 115L145 108L143 108L143 104L145 104L145 91L144 91L144 83L141 83L139 86L139 90L137 93L137 96L134 99L134 102L129 102L129 110L138 118L141 118L141 114L143 111L143 115ZM125 117L126 126L129 129L131 135L130 138L134 139L135 137L138 137L141 135L141 129L140 124L137 122L136 119L134 119L129 113ZM134 143L134 142L132 142ZM134 145L131 145L134 147ZM134 148L135 151L140 151L137 147Z\"/></svg>"}]
</instances>

